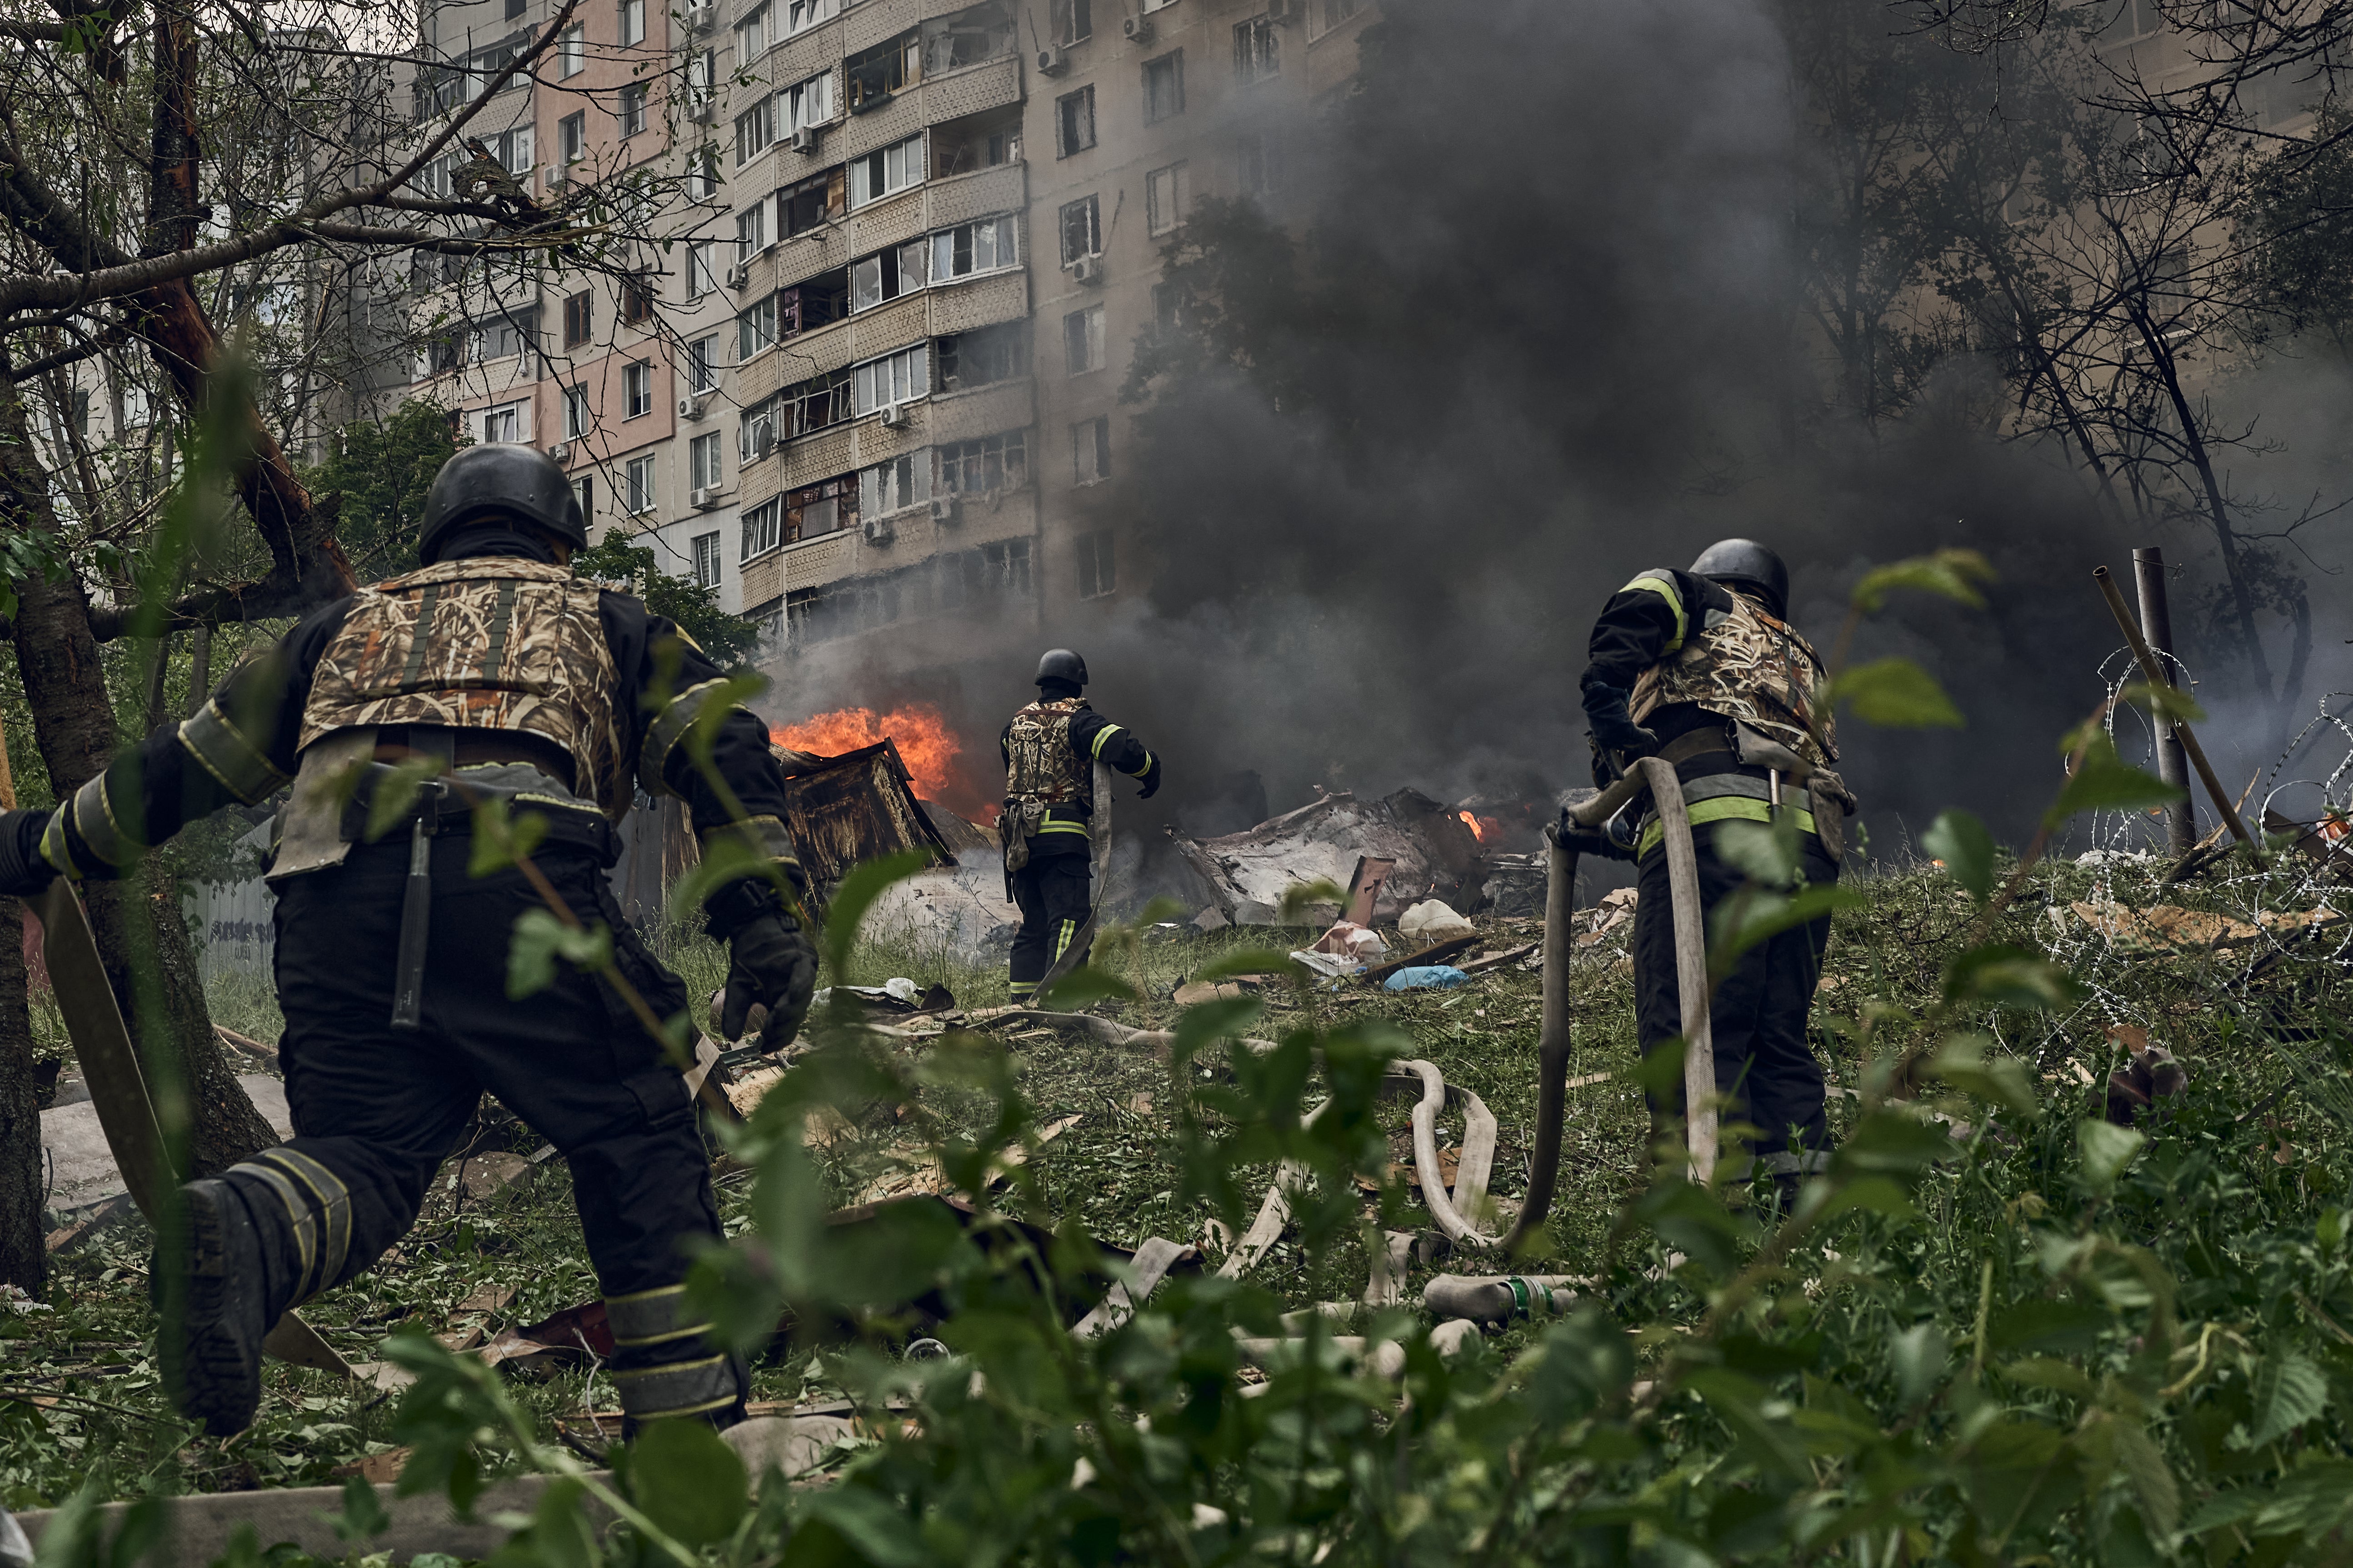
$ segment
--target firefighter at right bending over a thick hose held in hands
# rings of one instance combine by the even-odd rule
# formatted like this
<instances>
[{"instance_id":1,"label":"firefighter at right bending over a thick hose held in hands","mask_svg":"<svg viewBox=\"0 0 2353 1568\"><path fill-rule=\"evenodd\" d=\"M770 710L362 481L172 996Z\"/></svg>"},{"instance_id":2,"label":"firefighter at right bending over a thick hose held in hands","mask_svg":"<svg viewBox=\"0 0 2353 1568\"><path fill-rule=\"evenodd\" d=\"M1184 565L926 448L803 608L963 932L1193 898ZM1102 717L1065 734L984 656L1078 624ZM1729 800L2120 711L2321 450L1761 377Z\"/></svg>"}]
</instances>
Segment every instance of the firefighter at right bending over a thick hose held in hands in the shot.
<instances>
[{"instance_id":1,"label":"firefighter at right bending over a thick hose held in hands","mask_svg":"<svg viewBox=\"0 0 2353 1568\"><path fill-rule=\"evenodd\" d=\"M1748 882L1720 853L1727 823L1793 813L1802 882L1838 879L1854 797L1831 771L1838 736L1821 705L1821 658L1786 616L1781 557L1755 541L1727 538L1708 545L1689 571L1638 574L1593 623L1581 686L1595 783L1607 788L1638 757L1675 766L1706 914ZM1645 792L1609 830L1577 832L1565 823L1562 832L1574 832L1581 853L1638 863L1635 1030L1647 1053L1682 1034L1659 816ZM1784 1197L1828 1161L1821 1063L1805 1027L1828 938L1824 914L1751 947L1708 1009L1715 1084L1727 1100L1722 1124L1755 1128L1748 1147L1727 1147L1718 1168L1732 1180L1772 1175ZM1680 1114L1680 1091L1657 1110Z\"/></svg>"}]
</instances>

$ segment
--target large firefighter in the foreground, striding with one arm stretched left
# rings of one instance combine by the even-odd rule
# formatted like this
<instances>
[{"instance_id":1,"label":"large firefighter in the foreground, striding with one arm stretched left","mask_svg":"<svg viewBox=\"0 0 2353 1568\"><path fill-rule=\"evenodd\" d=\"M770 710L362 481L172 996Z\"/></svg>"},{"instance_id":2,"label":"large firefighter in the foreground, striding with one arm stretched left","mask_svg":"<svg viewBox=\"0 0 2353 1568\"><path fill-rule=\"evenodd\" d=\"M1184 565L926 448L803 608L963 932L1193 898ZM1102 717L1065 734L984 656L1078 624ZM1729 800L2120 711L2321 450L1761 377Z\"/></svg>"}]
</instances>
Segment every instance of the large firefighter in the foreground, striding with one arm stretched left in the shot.
<instances>
[{"instance_id":1,"label":"large firefighter in the foreground, striding with one arm stretched left","mask_svg":"<svg viewBox=\"0 0 2353 1568\"><path fill-rule=\"evenodd\" d=\"M311 611L193 719L115 757L54 813L0 823L0 884L35 893L52 875L120 877L186 823L292 785L268 879L296 1135L184 1185L186 1272L153 1274L165 1385L214 1434L252 1422L278 1316L414 1225L482 1091L572 1166L628 1425L744 1413L746 1368L685 1300L687 1246L718 1241L720 1220L675 1046L567 964L508 999L515 924L546 905L520 867L468 875L478 804L539 816L532 865L579 922L612 933L652 1011L680 1016L682 983L605 879L633 792L680 795L706 849L751 849L704 905L729 945L729 1032L765 1004L760 1046L774 1051L807 1013L816 952L786 898L800 870L767 726L741 708L715 717L711 764L736 816L685 743L725 701L718 665L642 602L574 581L567 562L586 543L548 456L468 447L426 496L419 571Z\"/></svg>"}]
</instances>

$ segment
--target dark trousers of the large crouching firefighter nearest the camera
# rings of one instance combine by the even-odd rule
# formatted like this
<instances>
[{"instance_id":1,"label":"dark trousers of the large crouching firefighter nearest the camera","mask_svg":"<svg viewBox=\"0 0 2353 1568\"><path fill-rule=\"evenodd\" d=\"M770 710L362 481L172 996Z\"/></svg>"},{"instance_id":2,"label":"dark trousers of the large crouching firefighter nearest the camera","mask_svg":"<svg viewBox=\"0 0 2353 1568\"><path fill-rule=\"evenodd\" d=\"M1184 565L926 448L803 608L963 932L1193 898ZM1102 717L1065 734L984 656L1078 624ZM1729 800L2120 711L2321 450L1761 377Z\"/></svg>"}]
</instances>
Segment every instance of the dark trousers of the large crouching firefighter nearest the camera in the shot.
<instances>
[{"instance_id":1,"label":"dark trousers of the large crouching firefighter nearest the camera","mask_svg":"<svg viewBox=\"0 0 2353 1568\"><path fill-rule=\"evenodd\" d=\"M407 882L407 835L355 844L341 867L278 884L278 1060L296 1154L348 1192L348 1253L336 1284L369 1267L409 1225L482 1091L522 1117L572 1166L572 1194L609 1298L678 1286L687 1246L718 1239L711 1161L678 1070L595 976L555 964L534 997L506 997L515 919L544 907L520 872L468 877L471 839L433 842L433 924L424 1027L393 1030L393 966ZM621 922L602 867L541 851L539 870L584 922L614 933L621 973L656 1016L687 1006L685 985ZM249 1208L271 1213L261 1194ZM282 1215L285 1211L275 1211ZM699 1338L614 1356L614 1368L708 1356Z\"/></svg>"}]
</instances>

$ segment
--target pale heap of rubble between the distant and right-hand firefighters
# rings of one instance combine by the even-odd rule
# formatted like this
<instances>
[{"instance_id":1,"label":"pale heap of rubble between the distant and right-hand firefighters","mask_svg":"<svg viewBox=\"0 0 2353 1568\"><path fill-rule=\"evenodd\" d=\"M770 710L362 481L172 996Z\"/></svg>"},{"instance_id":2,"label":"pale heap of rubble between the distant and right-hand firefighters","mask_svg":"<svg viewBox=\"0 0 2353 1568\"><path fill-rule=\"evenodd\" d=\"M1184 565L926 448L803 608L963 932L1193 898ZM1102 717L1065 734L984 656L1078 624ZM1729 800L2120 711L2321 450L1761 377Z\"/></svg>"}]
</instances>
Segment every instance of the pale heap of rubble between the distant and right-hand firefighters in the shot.
<instances>
[{"instance_id":1,"label":"pale heap of rubble between the distant and right-hand firefighters","mask_svg":"<svg viewBox=\"0 0 2353 1568\"><path fill-rule=\"evenodd\" d=\"M1247 832L1217 839L1172 835L1172 842L1209 886L1217 910L1238 926L1273 924L1282 896L1301 884L1329 882L1362 893L1360 863L1369 877L1377 860L1388 860L1391 870L1362 919L1348 907L1360 926L1395 919L1417 898L1482 907L1485 853L1478 837L1419 790L1398 790L1379 802L1325 795ZM1325 907L1332 917L1341 914Z\"/></svg>"}]
</instances>

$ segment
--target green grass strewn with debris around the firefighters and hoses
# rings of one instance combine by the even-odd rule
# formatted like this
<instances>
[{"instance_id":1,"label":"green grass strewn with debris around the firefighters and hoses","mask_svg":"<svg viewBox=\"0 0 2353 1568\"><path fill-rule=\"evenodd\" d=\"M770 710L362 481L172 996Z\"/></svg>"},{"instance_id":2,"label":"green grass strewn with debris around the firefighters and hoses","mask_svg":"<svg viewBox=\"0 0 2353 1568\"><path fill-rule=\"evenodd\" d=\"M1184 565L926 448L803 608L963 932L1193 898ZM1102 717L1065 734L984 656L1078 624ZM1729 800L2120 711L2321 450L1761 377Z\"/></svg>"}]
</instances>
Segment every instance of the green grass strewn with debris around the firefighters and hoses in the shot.
<instances>
[{"instance_id":1,"label":"green grass strewn with debris around the firefighters and hoses","mask_svg":"<svg viewBox=\"0 0 2353 1568\"><path fill-rule=\"evenodd\" d=\"M1927 867L1882 867L1859 882L1866 905L1838 917L1826 985L1817 1004L1817 1046L1833 1084L1852 1086L1861 1051L1908 1044L1911 1018L1941 985L1939 964L1965 945L1969 900ZM2327 889L2301 882L2297 867L2162 893L2167 900L2219 912L2252 907L2313 907ZM2301 1088L2259 1110L2259 1140L2231 1152L2233 1180L2249 1182L2278 1213L2308 1213L2344 1201L2341 1145L2353 1093L2344 1070L2337 1018L2346 1016L2344 924L2318 940L2257 943L2217 952L2137 952L2108 947L2073 914L2075 903L2160 898L2139 867L2040 867L2005 912L1998 936L2021 947L2064 957L2085 985L2085 1001L2059 1013L1988 1018L2000 1048L2031 1063L2057 1114L2097 1114L2099 1084L2118 1056L2111 1025L2148 1027L2191 1070L2191 1093L2259 1107L2282 1084ZM1626 929L1584 952L1574 966L1572 1006L1577 1074L1621 1074L1633 1065L1631 969ZM1108 1011L1139 1027L1176 1018L1176 983L1214 957L1297 940L1306 933L1221 931L1188 926L1146 931L1106 966L1129 980L1141 1001ZM1534 938L1532 922L1482 922L1485 945L1511 947ZM725 978L725 954L708 940L666 931L656 952L671 961L696 999ZM2271 954L2271 957L2266 957ZM951 961L939 950L899 936L861 945L847 983L908 976L946 983L962 1006L1005 999L1005 976ZM831 978L831 976L828 976ZM1405 1030L1414 1053L1435 1063L1449 1084L1478 1091L1501 1124L1492 1187L1499 1199L1525 1194L1537 1110L1539 976L1518 966L1480 976L1457 992L1271 990L1257 1032L1329 1027L1353 1018L1384 1018ZM214 992L216 1018L235 1030L275 1039L268 994L249 983ZM1179 1086L1146 1053L1071 1044L1054 1034L1007 1030L1024 1093L1040 1124L1078 1117L1054 1138L1033 1168L1052 1220L1075 1218L1104 1241L1134 1246L1146 1237L1202 1241L1207 1206L1179 1204L1179 1173L1169 1159L1167 1114ZM929 1093L929 1091L927 1091ZM1833 1128L1849 1100L1833 1098ZM948 1124L969 1117L944 1095L932 1105ZM1405 1161L1409 1103L1388 1107L1395 1159ZM1640 1185L1640 1145L1647 1117L1624 1081L1572 1091L1560 1194L1551 1244L1560 1272L1591 1267L1621 1201ZM1440 1128L1440 1143L1459 1124ZM821 1171L838 1204L856 1201L906 1133L887 1119L859 1126L821 1152ZM515 1147L536 1147L518 1128ZM2238 1168L2245 1166L2245 1168ZM1261 1173L1271 1175L1271 1173ZM746 1225L748 1190L741 1173L720 1175L729 1229ZM1367 1197L1367 1213L1374 1199ZM1407 1208L1402 1222L1426 1222ZM1391 1222L1400 1222L1391 1213ZM2308 1225L2308 1220L2306 1220ZM148 1356L146 1237L136 1227L101 1234L54 1260L47 1312L0 1307L0 1502L40 1507L61 1500L85 1474L104 1474L113 1495L146 1490L219 1490L245 1486L327 1483L336 1467L388 1446L391 1401L374 1389L320 1373L271 1366L256 1425L226 1441L193 1434L162 1401ZM1442 1267L1478 1267L1457 1262ZM1417 1269L1414 1286L1428 1274ZM1254 1272L1292 1305L1355 1300L1365 1286L1360 1248L1341 1248L1308 1272L1297 1251L1278 1248ZM511 1288L501 1324L529 1324L548 1312L591 1300L572 1215L567 1175L551 1161L534 1180L468 1199L445 1171L416 1229L376 1269L306 1307L320 1331L351 1359L405 1321L442 1328L456 1305L482 1288ZM1522 1331L1525 1333L1525 1331ZM1506 1347L1511 1340L1504 1342ZM518 1378L518 1396L541 1420L612 1408L612 1385L584 1373ZM791 1354L755 1371L755 1399L800 1399L824 1387L824 1366Z\"/></svg>"}]
</instances>

